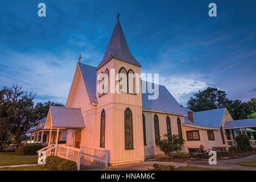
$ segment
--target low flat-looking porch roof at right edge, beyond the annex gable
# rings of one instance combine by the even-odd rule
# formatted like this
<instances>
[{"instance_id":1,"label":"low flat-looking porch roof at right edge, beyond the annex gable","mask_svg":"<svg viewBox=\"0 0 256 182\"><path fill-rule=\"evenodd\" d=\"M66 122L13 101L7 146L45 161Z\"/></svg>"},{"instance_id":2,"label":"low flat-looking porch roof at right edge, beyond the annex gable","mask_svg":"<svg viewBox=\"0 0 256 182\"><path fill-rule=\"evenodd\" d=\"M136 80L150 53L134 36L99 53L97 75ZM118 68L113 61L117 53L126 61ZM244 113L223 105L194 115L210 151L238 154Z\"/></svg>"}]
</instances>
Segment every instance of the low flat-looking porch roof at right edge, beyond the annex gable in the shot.
<instances>
[{"instance_id":1,"label":"low flat-looking porch roof at right edge, beyond the annex gable","mask_svg":"<svg viewBox=\"0 0 256 182\"><path fill-rule=\"evenodd\" d=\"M240 119L235 121L225 122L224 129L237 129L245 127L256 127L256 118Z\"/></svg>"}]
</instances>

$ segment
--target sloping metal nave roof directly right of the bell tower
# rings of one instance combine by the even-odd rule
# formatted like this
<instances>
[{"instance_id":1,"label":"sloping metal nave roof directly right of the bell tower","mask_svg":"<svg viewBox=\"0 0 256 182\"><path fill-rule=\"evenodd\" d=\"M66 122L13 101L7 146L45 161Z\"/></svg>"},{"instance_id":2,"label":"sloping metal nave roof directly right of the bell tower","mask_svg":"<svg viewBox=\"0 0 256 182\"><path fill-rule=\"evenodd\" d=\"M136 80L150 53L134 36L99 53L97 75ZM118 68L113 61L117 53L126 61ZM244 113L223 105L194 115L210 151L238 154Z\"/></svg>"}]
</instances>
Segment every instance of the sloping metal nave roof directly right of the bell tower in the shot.
<instances>
[{"instance_id":1,"label":"sloping metal nave roof directly right of the bell tower","mask_svg":"<svg viewBox=\"0 0 256 182\"><path fill-rule=\"evenodd\" d=\"M142 84L148 84L147 81L141 81ZM151 83L150 83L151 84ZM148 100L148 96L152 95L147 93L142 93L142 109L154 110L154 111L164 111L167 113L182 114L187 115L184 107L181 107L179 103L175 100L172 94L163 85L159 86L159 96L156 100ZM153 84L152 84L153 87Z\"/></svg>"}]
</instances>

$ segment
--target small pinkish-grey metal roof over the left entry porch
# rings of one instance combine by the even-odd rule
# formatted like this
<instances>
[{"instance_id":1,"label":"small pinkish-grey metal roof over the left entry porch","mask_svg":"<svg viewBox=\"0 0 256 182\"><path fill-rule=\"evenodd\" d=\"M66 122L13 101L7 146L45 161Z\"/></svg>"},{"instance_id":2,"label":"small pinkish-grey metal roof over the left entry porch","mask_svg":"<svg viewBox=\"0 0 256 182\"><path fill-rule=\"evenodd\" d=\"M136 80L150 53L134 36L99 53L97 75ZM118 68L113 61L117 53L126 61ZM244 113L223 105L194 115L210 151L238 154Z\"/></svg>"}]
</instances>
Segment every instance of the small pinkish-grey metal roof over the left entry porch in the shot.
<instances>
[{"instance_id":1,"label":"small pinkish-grey metal roof over the left entry porch","mask_svg":"<svg viewBox=\"0 0 256 182\"><path fill-rule=\"evenodd\" d=\"M85 127L80 108L51 106L51 127Z\"/></svg>"}]
</instances>

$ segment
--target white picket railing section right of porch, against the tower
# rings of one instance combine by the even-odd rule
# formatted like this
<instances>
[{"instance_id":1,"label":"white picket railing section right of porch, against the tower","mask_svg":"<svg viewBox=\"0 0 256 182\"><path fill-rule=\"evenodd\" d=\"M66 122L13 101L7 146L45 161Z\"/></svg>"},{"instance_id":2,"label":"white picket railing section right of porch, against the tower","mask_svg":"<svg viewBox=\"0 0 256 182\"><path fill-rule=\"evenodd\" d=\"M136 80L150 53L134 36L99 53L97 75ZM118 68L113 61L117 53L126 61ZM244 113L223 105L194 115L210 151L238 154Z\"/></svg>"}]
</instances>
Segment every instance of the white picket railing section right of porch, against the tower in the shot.
<instances>
[{"instance_id":1,"label":"white picket railing section right of porch, against the tower","mask_svg":"<svg viewBox=\"0 0 256 182\"><path fill-rule=\"evenodd\" d=\"M84 144L80 144L80 147L82 149L81 159L108 167L108 150Z\"/></svg>"}]
</instances>

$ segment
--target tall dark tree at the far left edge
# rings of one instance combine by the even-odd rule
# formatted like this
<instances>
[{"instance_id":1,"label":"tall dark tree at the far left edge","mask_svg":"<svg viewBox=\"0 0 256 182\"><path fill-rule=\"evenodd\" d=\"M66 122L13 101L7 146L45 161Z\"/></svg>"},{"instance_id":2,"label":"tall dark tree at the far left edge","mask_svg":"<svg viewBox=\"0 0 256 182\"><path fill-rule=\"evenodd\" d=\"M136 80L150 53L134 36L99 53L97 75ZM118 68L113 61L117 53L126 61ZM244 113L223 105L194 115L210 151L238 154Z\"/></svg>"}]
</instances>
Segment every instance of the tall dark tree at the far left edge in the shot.
<instances>
[{"instance_id":1,"label":"tall dark tree at the far left edge","mask_svg":"<svg viewBox=\"0 0 256 182\"><path fill-rule=\"evenodd\" d=\"M5 108L6 114L6 118L1 117L1 123L5 129L9 125L9 132L15 136L16 144L19 144L20 136L35 126L35 94L23 92L22 87L16 84L10 88L5 86L1 90L1 95L1 105Z\"/></svg>"}]
</instances>

